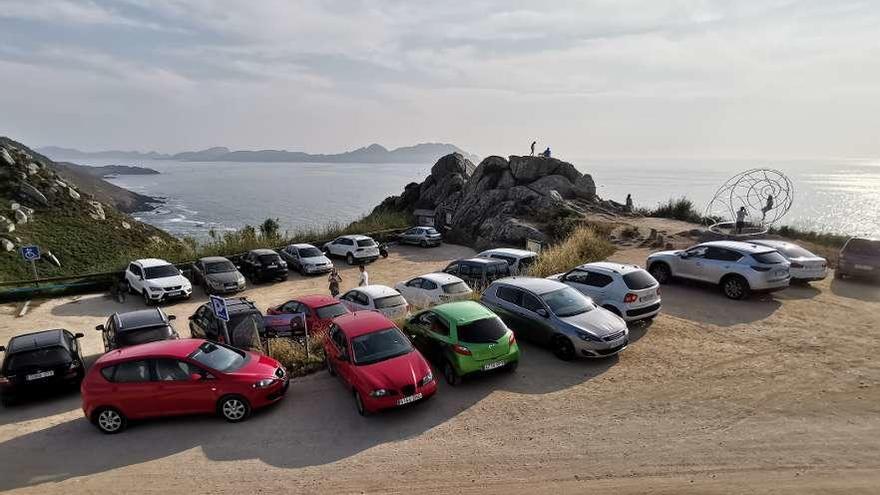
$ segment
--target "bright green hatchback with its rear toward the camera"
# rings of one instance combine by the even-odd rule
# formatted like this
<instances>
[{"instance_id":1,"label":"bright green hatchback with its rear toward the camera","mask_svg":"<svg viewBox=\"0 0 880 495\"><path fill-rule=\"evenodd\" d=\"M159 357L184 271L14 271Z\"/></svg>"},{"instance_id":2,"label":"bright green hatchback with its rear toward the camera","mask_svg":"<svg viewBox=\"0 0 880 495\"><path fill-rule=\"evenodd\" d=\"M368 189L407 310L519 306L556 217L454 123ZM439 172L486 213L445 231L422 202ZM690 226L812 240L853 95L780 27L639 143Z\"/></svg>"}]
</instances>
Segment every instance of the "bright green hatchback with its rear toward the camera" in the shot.
<instances>
[{"instance_id":1,"label":"bright green hatchback with its rear toward the camera","mask_svg":"<svg viewBox=\"0 0 880 495\"><path fill-rule=\"evenodd\" d=\"M476 301L434 306L407 320L404 330L429 360L443 369L450 385L465 375L519 364L513 332L498 316Z\"/></svg>"}]
</instances>

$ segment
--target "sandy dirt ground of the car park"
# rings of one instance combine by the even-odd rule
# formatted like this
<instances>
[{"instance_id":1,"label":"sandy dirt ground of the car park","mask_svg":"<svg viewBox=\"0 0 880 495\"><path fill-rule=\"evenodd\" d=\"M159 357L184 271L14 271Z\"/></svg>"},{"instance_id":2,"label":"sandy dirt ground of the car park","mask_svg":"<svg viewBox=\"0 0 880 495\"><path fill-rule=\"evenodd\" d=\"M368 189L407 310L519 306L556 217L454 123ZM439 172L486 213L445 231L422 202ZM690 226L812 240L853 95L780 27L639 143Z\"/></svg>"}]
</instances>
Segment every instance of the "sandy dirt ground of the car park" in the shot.
<instances>
[{"instance_id":1,"label":"sandy dirt ground of the car park","mask_svg":"<svg viewBox=\"0 0 880 495\"><path fill-rule=\"evenodd\" d=\"M390 285L469 252L398 248L369 271ZM315 290L323 278L293 276L247 294L265 309ZM203 300L168 308L182 333ZM513 375L441 384L427 403L369 418L326 373L237 425L182 418L105 436L76 394L22 404L0 412L0 491L880 492L880 288L828 279L733 302L673 285L663 301L618 357L564 363L524 345ZM66 327L97 354L90 329L136 307L95 295L17 318L0 306L0 341Z\"/></svg>"}]
</instances>

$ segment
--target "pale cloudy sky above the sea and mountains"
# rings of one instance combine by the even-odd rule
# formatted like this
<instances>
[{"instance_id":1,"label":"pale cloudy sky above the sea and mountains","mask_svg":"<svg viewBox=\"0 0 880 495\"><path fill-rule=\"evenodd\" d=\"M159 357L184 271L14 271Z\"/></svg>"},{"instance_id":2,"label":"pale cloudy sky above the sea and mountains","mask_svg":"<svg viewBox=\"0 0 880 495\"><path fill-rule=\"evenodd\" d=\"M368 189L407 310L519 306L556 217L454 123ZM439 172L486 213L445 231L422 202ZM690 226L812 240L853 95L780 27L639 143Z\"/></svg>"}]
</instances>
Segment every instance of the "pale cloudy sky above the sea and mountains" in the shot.
<instances>
[{"instance_id":1,"label":"pale cloudy sky above the sea and mountains","mask_svg":"<svg viewBox=\"0 0 880 495\"><path fill-rule=\"evenodd\" d=\"M880 2L2 0L0 135L880 157Z\"/></svg>"}]
</instances>

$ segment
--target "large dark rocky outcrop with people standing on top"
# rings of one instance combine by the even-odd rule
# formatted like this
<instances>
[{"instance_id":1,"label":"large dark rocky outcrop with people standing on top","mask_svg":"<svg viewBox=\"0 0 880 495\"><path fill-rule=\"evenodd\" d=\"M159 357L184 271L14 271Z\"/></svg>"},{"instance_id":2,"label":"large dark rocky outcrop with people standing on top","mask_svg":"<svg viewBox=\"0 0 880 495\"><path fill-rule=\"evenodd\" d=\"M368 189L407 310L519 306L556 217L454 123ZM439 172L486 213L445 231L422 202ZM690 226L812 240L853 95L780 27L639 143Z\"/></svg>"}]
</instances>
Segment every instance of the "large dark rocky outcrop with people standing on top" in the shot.
<instances>
[{"instance_id":1,"label":"large dark rocky outcrop with people standing on top","mask_svg":"<svg viewBox=\"0 0 880 495\"><path fill-rule=\"evenodd\" d=\"M376 209L434 210L438 224L449 214L447 239L482 248L523 246L529 238L548 241L554 222L578 216L595 201L592 177L568 162L490 156L474 167L453 153L438 160L421 184L407 184L403 194Z\"/></svg>"}]
</instances>

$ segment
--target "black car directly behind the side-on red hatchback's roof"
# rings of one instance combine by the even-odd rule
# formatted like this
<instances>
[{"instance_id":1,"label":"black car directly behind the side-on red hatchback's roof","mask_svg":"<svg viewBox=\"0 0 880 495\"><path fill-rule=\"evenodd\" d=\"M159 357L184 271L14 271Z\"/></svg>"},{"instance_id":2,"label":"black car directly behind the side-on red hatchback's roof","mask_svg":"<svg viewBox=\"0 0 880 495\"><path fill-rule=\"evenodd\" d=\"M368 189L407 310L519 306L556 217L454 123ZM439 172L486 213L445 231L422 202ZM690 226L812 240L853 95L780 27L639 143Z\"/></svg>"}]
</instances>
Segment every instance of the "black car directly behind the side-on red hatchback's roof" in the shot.
<instances>
[{"instance_id":1,"label":"black car directly behind the side-on red hatchback's roof","mask_svg":"<svg viewBox=\"0 0 880 495\"><path fill-rule=\"evenodd\" d=\"M157 340L179 339L171 325L174 315L166 315L162 308L141 309L128 313L113 313L105 325L95 330L104 339L104 352Z\"/></svg>"}]
</instances>

